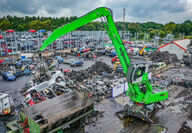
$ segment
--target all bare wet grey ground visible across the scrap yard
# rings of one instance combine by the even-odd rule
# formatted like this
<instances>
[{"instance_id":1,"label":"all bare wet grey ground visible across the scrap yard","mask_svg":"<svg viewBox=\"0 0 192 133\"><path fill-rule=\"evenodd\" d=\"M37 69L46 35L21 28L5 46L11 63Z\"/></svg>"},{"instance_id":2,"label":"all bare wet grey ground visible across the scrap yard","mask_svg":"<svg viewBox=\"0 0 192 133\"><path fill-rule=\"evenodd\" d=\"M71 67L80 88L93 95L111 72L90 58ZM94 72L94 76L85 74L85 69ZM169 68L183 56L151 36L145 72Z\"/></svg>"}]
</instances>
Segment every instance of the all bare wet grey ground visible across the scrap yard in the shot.
<instances>
[{"instance_id":1,"label":"all bare wet grey ground visible across the scrap yard","mask_svg":"<svg viewBox=\"0 0 192 133\"><path fill-rule=\"evenodd\" d=\"M101 60L111 67L111 58L107 56L101 56L97 60ZM60 68L81 70L92 66L95 61L85 61L83 66L71 68L68 65L60 64ZM177 68L181 69L181 68ZM172 70L164 72L169 75ZM177 71L178 75L180 71ZM192 73L191 70L186 70L188 73ZM19 106L23 96L19 93L19 89L32 78L32 75L23 76L17 78L16 81L8 82L0 79L0 90L2 93L10 93L14 99L15 106ZM95 118L91 118L86 123L83 130L78 132L90 132L90 133L156 133L156 132L168 132L168 133L183 133L191 132L189 127L192 127L192 88L185 88L180 85L169 85L167 87L169 93L169 99L162 102L163 107L159 106L155 110L155 115L152 115L154 124L149 124L135 118L127 118L120 120L115 116L115 112L122 109L122 104L129 100L127 96L120 96L116 99L103 99L95 104L95 110L99 111L99 115ZM5 124L8 121L15 119L12 117L0 118L0 133L5 132Z\"/></svg>"}]
</instances>

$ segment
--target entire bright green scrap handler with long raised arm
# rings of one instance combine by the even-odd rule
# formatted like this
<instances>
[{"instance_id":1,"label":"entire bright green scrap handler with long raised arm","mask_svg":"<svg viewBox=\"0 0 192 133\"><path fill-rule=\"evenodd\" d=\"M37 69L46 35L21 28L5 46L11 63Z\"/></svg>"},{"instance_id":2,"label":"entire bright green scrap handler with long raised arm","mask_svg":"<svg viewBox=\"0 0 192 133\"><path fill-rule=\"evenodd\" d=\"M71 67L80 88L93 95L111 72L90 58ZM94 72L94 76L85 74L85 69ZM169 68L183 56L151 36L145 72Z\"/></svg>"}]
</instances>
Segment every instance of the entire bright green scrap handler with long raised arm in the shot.
<instances>
[{"instance_id":1,"label":"entire bright green scrap handler with long raised arm","mask_svg":"<svg viewBox=\"0 0 192 133\"><path fill-rule=\"evenodd\" d=\"M136 64L131 63L124 44L114 24L112 11L109 8L97 8L78 18L77 20L56 29L44 41L40 50L45 49L48 45L53 43L62 35L98 18L101 18L107 33L113 42L128 83L129 89L127 91L127 96L130 97L131 103L125 105L123 114L125 116L135 116L144 121L150 121L150 115L155 109L155 105L160 101L168 99L168 92L163 91L153 93L153 88L148 80L148 64L143 62ZM32 124L30 121L28 121L28 124L29 127L32 127L32 125L30 125Z\"/></svg>"}]
</instances>

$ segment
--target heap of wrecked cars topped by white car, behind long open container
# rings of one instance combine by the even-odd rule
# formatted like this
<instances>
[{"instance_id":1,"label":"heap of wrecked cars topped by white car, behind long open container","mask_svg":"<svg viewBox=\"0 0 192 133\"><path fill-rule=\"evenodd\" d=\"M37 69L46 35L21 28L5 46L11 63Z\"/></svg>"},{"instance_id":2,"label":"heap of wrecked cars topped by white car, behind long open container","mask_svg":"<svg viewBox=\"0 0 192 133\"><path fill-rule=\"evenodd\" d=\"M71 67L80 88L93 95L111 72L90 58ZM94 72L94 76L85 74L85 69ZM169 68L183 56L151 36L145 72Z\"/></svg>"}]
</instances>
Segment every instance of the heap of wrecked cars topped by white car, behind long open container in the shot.
<instances>
[{"instance_id":1,"label":"heap of wrecked cars topped by white car, behind long open container","mask_svg":"<svg viewBox=\"0 0 192 133\"><path fill-rule=\"evenodd\" d=\"M25 95L25 99L23 100L24 106L32 106L46 99L52 99L56 96L66 94L71 92L74 86L73 82L64 76L61 71L56 71L50 80L38 85L34 82L30 83L20 90L20 93Z\"/></svg>"}]
</instances>

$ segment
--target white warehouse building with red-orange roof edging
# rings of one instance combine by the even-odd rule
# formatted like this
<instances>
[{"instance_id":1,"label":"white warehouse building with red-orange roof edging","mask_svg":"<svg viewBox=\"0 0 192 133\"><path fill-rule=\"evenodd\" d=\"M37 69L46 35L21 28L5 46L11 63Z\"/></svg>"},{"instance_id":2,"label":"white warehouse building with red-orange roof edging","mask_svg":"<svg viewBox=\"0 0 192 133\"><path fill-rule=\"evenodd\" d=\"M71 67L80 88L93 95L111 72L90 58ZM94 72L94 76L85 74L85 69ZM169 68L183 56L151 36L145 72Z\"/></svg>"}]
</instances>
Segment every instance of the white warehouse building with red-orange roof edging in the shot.
<instances>
[{"instance_id":1,"label":"white warehouse building with red-orange roof edging","mask_svg":"<svg viewBox=\"0 0 192 133\"><path fill-rule=\"evenodd\" d=\"M190 44L189 39L177 40L167 43L161 47L159 50L161 52L168 51L171 54L176 54L178 59L183 59L183 54L187 50L187 46Z\"/></svg>"}]
</instances>

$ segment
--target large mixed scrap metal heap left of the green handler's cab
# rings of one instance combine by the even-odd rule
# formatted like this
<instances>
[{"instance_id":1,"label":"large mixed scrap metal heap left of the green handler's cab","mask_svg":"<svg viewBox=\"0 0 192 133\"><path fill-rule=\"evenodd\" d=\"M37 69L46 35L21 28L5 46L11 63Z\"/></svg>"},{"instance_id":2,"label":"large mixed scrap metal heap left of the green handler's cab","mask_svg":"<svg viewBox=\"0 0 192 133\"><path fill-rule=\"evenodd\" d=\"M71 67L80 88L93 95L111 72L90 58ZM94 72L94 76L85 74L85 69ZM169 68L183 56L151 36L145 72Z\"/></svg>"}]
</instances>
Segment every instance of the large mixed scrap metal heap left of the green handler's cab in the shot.
<instances>
[{"instance_id":1,"label":"large mixed scrap metal heap left of the green handler's cab","mask_svg":"<svg viewBox=\"0 0 192 133\"><path fill-rule=\"evenodd\" d=\"M76 83L77 90L85 92L95 101L111 96L113 83L111 79L118 76L113 73L109 65L101 61L85 70L65 72L65 75Z\"/></svg>"}]
</instances>

